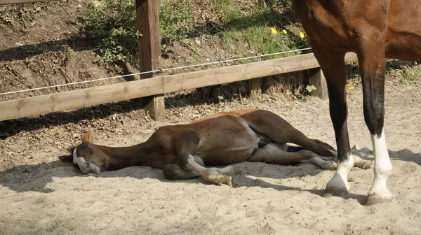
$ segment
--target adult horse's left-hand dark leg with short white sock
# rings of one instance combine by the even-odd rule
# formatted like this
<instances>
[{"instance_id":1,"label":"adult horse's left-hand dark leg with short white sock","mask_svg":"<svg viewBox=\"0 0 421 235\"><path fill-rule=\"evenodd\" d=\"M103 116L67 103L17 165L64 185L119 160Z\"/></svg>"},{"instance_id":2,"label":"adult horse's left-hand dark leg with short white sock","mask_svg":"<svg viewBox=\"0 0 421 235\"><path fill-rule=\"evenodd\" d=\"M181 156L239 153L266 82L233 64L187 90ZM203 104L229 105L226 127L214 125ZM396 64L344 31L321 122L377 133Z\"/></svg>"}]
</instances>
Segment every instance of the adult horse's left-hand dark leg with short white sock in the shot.
<instances>
[{"instance_id":1,"label":"adult horse's left-hand dark leg with short white sock","mask_svg":"<svg viewBox=\"0 0 421 235\"><path fill-rule=\"evenodd\" d=\"M328 181L325 192L326 195L343 197L349 192L347 177L354 166L347 127L345 52L330 52L316 41L311 41L311 44L328 84L330 118L338 148L338 168Z\"/></svg>"}]
</instances>

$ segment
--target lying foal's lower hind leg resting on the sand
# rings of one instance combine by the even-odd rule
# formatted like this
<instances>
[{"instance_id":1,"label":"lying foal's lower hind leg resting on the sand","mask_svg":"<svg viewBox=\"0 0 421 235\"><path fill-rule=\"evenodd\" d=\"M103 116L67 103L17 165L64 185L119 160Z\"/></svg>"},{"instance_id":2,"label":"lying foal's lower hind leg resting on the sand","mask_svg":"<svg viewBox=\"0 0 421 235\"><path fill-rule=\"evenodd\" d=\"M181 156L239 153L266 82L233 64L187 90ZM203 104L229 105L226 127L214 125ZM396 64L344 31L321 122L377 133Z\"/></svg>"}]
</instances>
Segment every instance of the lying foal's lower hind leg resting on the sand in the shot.
<instances>
[{"instance_id":1,"label":"lying foal's lower hind leg resting on the sand","mask_svg":"<svg viewBox=\"0 0 421 235\"><path fill-rule=\"evenodd\" d=\"M269 164L293 164L299 162L309 162L320 166L321 169L336 169L336 162L325 161L314 152L308 150L300 150L298 152L287 152L286 144L268 143L263 148L258 148L247 159L248 162L265 162Z\"/></svg>"}]
</instances>

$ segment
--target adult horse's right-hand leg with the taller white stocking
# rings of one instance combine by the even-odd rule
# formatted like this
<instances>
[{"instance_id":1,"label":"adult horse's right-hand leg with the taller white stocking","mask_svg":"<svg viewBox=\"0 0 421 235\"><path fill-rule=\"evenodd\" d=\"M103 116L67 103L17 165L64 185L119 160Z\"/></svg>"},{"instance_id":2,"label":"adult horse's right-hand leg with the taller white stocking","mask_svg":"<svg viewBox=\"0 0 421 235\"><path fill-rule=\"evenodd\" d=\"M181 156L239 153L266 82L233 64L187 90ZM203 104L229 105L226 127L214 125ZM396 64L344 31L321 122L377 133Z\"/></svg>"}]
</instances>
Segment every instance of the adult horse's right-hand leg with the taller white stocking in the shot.
<instances>
[{"instance_id":1,"label":"adult horse's right-hand leg with the taller white stocking","mask_svg":"<svg viewBox=\"0 0 421 235\"><path fill-rule=\"evenodd\" d=\"M386 29L383 29L384 31ZM370 30L359 41L359 66L363 81L364 120L371 134L375 155L374 181L368 191L367 204L391 201L392 193L387 189L387 178L392 173L392 164L387 152L385 131L385 32Z\"/></svg>"}]
</instances>

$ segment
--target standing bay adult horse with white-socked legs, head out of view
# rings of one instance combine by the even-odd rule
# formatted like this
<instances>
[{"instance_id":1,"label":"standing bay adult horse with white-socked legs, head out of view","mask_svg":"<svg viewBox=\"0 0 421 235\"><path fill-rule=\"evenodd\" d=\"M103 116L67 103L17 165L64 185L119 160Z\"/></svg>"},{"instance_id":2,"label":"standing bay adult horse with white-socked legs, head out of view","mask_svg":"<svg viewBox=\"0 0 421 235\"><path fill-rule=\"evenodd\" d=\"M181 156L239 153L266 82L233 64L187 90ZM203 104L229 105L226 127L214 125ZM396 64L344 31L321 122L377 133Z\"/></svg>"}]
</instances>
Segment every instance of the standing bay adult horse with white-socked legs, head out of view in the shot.
<instances>
[{"instance_id":1,"label":"standing bay adult horse with white-socked legs, head out of view","mask_svg":"<svg viewBox=\"0 0 421 235\"><path fill-rule=\"evenodd\" d=\"M293 0L326 76L330 118L340 164L326 193L347 194L354 165L347 129L345 53L358 55L363 83L364 119L375 154L374 180L367 204L391 201L387 178L392 164L383 130L385 58L421 60L421 4L414 0Z\"/></svg>"}]
</instances>

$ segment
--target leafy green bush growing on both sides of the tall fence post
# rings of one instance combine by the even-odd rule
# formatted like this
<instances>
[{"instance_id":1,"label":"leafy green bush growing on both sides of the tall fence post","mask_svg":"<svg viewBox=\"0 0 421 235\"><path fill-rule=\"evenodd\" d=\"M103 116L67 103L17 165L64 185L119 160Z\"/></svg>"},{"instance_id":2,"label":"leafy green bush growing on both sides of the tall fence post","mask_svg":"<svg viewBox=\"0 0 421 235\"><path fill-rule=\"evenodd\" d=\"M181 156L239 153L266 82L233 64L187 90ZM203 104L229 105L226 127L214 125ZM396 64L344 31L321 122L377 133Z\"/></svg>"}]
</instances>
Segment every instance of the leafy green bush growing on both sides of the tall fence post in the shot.
<instances>
[{"instance_id":1,"label":"leafy green bush growing on both sides of the tall fence post","mask_svg":"<svg viewBox=\"0 0 421 235\"><path fill-rule=\"evenodd\" d=\"M161 0L159 23L161 44L187 38L191 27L186 23L192 17L192 6L184 0ZM81 34L95 43L100 51L95 62L111 64L135 55L138 38L134 0L92 1L85 17L77 26Z\"/></svg>"}]
</instances>

